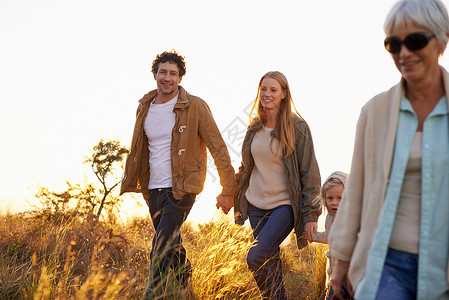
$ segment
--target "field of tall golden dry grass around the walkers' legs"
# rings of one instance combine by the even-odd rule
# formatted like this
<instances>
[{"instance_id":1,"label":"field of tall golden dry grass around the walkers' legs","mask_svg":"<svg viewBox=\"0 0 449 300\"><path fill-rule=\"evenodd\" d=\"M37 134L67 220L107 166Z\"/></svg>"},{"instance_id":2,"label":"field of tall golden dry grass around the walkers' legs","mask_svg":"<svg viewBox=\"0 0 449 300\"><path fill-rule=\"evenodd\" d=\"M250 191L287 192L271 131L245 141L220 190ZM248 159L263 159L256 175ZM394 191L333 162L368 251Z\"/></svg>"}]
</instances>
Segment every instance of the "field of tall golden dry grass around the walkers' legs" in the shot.
<instances>
[{"instance_id":1,"label":"field of tall golden dry grass around the walkers' legs","mask_svg":"<svg viewBox=\"0 0 449 300\"><path fill-rule=\"evenodd\" d=\"M0 216L0 299L141 299L154 229L76 214ZM323 299L327 245L282 247L289 299ZM226 217L183 227L194 267L186 288L168 278L164 299L260 299L246 266L251 231Z\"/></svg>"}]
</instances>

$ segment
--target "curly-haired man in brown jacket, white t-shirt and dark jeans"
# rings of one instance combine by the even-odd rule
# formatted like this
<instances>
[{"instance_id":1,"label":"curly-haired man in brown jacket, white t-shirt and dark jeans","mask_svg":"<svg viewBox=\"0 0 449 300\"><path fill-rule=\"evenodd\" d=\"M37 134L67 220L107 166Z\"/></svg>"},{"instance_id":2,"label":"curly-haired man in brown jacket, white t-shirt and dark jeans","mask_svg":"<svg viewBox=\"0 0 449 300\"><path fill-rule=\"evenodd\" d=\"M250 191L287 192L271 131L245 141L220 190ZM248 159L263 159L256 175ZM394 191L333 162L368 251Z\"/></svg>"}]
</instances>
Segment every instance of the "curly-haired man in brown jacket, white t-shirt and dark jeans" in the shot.
<instances>
[{"instance_id":1,"label":"curly-haired man in brown jacket, white t-shirt and dark jeans","mask_svg":"<svg viewBox=\"0 0 449 300\"><path fill-rule=\"evenodd\" d=\"M186 72L184 57L163 52L153 61L152 72L157 89L139 100L120 191L143 194L156 231L145 298L163 289L170 268L181 285L191 274L180 228L204 187L206 147L223 187L217 207L227 212L236 188L231 159L209 107L179 86Z\"/></svg>"}]
</instances>

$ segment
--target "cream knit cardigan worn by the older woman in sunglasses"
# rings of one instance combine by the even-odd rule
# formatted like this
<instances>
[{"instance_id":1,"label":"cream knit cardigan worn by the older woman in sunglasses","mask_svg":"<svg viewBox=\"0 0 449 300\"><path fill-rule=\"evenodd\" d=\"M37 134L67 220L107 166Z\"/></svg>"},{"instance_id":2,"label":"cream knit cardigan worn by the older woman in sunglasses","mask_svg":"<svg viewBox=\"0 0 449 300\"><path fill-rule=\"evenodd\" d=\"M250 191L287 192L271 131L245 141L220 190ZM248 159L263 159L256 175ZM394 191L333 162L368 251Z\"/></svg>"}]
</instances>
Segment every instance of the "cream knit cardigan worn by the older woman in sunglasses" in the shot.
<instances>
[{"instance_id":1,"label":"cream knit cardigan worn by the older woman in sunglasses","mask_svg":"<svg viewBox=\"0 0 449 300\"><path fill-rule=\"evenodd\" d=\"M446 93L449 74L441 68ZM349 261L349 280L356 287L379 227L392 167L404 82L383 92L362 108L354 143L351 172L329 235L331 255ZM449 99L449 97L447 98Z\"/></svg>"}]
</instances>

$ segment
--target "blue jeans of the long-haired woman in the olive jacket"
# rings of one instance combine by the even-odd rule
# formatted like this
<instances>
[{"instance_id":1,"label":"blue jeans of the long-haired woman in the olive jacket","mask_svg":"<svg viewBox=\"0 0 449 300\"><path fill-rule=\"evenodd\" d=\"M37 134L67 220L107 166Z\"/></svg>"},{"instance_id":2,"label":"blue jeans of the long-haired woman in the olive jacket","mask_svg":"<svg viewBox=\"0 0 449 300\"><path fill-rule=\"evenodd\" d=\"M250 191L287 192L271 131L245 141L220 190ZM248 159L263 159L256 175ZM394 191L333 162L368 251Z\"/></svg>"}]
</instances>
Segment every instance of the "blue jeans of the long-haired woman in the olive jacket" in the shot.
<instances>
[{"instance_id":1,"label":"blue jeans of the long-haired woman in the olive jacket","mask_svg":"<svg viewBox=\"0 0 449 300\"><path fill-rule=\"evenodd\" d=\"M248 267L263 299L287 299L279 245L293 229L293 209L282 205L264 210L248 203L248 215L255 239L248 252Z\"/></svg>"}]
</instances>

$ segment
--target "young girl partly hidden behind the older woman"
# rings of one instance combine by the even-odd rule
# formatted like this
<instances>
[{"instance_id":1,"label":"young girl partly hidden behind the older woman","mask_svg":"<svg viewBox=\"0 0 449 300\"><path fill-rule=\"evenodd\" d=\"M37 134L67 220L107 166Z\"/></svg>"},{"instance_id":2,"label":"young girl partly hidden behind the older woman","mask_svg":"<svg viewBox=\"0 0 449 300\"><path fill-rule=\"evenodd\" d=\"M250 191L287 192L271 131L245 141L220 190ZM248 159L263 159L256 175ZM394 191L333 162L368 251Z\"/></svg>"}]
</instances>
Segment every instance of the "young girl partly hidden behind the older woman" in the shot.
<instances>
[{"instance_id":1,"label":"young girl partly hidden behind the older woman","mask_svg":"<svg viewBox=\"0 0 449 300\"><path fill-rule=\"evenodd\" d=\"M336 171L332 173L323 183L319 198L323 207L325 207L327 210L326 221L324 224L325 231L314 234L312 237L314 242L324 244L328 243L327 235L329 234L332 222L334 221L335 215L337 214L338 205L340 204L347 178L348 174ZM329 258L326 278L326 286L328 287L326 299L329 300L331 299L333 294L329 279L332 275L332 269L334 266L334 259L331 257L330 249L326 253L326 256L327 258Z\"/></svg>"}]
</instances>

